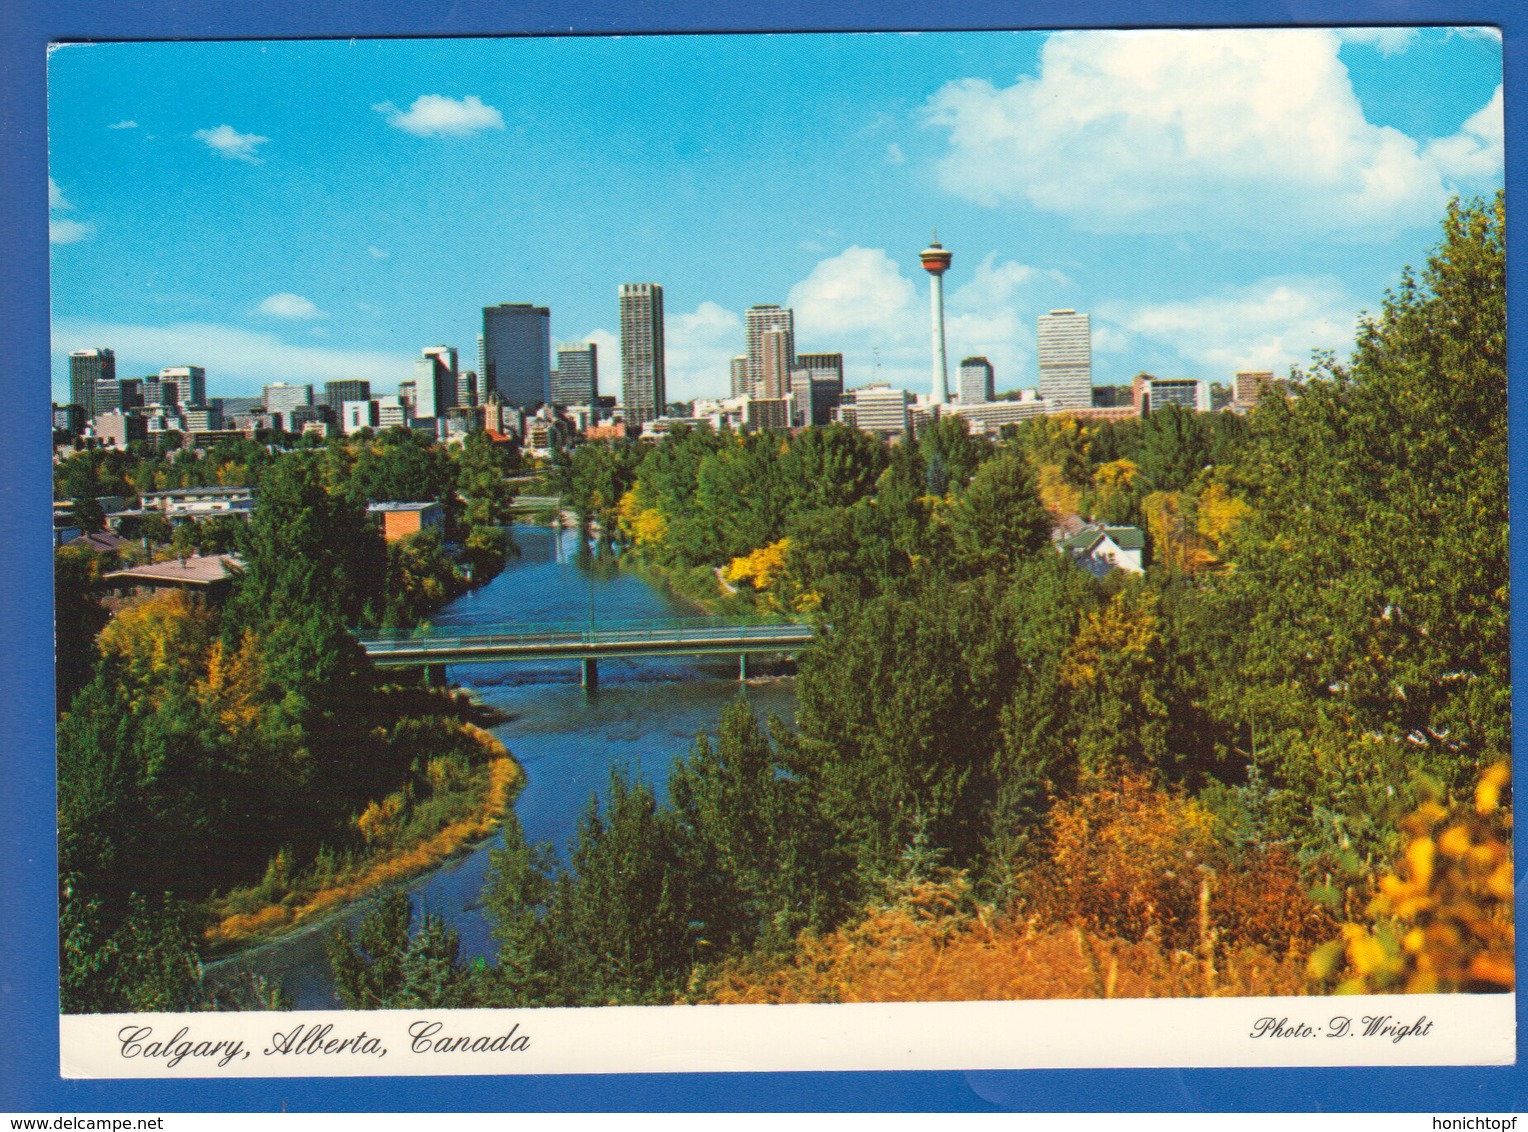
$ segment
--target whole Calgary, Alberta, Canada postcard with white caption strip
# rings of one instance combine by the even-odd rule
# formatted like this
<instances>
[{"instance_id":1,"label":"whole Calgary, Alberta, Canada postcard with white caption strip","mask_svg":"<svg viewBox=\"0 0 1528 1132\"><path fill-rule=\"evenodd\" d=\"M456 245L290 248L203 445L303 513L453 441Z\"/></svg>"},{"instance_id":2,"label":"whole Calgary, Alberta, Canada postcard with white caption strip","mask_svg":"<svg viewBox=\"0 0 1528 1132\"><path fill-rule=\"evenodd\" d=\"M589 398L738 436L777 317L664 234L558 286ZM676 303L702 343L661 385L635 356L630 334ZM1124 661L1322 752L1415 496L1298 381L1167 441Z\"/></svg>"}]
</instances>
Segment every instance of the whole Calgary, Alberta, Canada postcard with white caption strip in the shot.
<instances>
[{"instance_id":1,"label":"whole Calgary, Alberta, Canada postcard with white caption strip","mask_svg":"<svg viewBox=\"0 0 1528 1132\"><path fill-rule=\"evenodd\" d=\"M60 43L64 1079L1516 1059L1502 37Z\"/></svg>"}]
</instances>

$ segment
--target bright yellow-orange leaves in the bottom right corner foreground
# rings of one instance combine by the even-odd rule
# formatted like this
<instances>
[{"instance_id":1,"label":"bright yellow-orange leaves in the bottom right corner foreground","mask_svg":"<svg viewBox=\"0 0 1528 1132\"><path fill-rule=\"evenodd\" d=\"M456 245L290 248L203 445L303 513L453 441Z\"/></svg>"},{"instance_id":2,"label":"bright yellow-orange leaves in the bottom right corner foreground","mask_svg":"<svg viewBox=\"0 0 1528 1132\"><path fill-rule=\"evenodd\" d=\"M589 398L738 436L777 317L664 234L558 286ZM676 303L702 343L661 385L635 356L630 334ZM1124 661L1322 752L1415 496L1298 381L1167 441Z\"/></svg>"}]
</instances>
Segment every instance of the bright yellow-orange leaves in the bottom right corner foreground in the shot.
<instances>
[{"instance_id":1,"label":"bright yellow-orange leaves in the bottom right corner foreground","mask_svg":"<svg viewBox=\"0 0 1528 1132\"><path fill-rule=\"evenodd\" d=\"M1510 778L1499 762L1473 805L1424 802L1406 819L1409 840L1378 880L1371 923L1343 924L1311 956L1313 979L1340 978L1340 995L1513 990L1513 816L1500 804Z\"/></svg>"}]
</instances>

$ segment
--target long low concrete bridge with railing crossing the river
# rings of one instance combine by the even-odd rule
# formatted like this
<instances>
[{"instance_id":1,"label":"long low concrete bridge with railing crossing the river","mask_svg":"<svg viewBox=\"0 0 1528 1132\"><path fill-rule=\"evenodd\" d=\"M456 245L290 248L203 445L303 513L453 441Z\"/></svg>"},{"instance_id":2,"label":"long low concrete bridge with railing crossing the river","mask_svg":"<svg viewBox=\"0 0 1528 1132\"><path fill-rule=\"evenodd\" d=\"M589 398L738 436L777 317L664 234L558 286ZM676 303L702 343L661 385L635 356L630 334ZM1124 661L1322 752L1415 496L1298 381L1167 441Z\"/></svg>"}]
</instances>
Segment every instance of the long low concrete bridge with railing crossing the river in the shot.
<instances>
[{"instance_id":1,"label":"long low concrete bridge with railing crossing the river","mask_svg":"<svg viewBox=\"0 0 1528 1132\"><path fill-rule=\"evenodd\" d=\"M599 686L599 660L604 657L736 654L738 678L747 680L750 655L799 652L813 642L813 636L811 626L805 623L680 617L594 625L516 625L487 631L439 626L373 632L359 640L377 668L578 660L584 686L593 689Z\"/></svg>"}]
</instances>

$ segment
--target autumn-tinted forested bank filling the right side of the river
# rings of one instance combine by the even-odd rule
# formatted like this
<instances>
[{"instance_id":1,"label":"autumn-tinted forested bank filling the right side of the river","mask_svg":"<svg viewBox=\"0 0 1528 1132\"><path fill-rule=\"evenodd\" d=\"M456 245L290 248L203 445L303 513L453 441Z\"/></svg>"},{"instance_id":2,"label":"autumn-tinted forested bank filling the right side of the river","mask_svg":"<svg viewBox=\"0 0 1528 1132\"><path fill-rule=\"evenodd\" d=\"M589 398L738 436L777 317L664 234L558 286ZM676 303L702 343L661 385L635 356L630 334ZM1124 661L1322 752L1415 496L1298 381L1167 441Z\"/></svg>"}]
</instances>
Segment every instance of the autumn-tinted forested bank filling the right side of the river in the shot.
<instances>
[{"instance_id":1,"label":"autumn-tinted forested bank filling the right side of the river","mask_svg":"<svg viewBox=\"0 0 1528 1132\"><path fill-rule=\"evenodd\" d=\"M662 802L616 771L567 868L507 830L498 962L394 901L336 936L342 998L1511 987L1502 197L1299 377L999 443L576 449L628 564L816 620L798 716L733 706ZM1149 570L1077 568L1071 513Z\"/></svg>"}]
</instances>

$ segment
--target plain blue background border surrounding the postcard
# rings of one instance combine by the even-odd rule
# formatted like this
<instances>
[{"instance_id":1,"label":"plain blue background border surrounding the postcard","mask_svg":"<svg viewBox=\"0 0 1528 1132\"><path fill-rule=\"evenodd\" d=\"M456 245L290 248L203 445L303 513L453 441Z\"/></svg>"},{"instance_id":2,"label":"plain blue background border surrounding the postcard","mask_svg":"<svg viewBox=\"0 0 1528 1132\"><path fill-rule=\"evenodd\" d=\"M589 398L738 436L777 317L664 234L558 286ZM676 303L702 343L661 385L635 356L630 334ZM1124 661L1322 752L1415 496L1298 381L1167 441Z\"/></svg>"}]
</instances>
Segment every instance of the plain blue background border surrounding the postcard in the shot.
<instances>
[{"instance_id":1,"label":"plain blue background border surrounding the postcard","mask_svg":"<svg viewBox=\"0 0 1528 1132\"><path fill-rule=\"evenodd\" d=\"M1508 194L1520 199L1528 139L1528 8L1517 0L9 0L0 5L0 1111L1415 1111L1528 1106L1522 1063L1490 1069L1157 1069L663 1077L454 1077L237 1082L64 1082L58 1077L44 67L57 40L492 35L607 31L851 31L1192 24L1496 24L1507 69ZM1510 215L1513 215L1510 212ZM1525 466L1528 345L1519 247L1508 235L1511 480ZM1528 562L1513 500L1513 588ZM1517 640L1528 631L1522 600ZM1520 660L1520 657L1519 657ZM1514 671L1520 669L1514 665ZM1528 718L1525 681L1517 718ZM1522 862L1522 839L1519 855ZM1525 921L1519 901L1519 938ZM1528 996L1517 1027L1528 1033Z\"/></svg>"}]
</instances>

